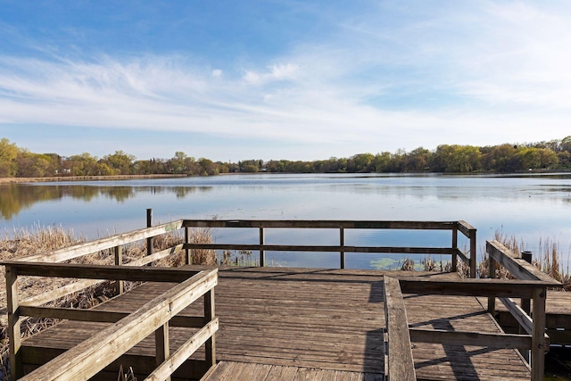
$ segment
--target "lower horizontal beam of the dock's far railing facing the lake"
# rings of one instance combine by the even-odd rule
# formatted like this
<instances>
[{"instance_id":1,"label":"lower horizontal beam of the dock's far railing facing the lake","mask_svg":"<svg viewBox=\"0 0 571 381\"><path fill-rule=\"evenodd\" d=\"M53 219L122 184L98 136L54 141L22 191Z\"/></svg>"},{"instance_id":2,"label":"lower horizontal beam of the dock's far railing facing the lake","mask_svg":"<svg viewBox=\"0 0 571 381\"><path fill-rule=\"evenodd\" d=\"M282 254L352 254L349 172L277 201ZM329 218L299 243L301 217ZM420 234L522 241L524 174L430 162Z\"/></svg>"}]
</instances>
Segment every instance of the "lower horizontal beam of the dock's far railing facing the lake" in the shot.
<instances>
[{"instance_id":1,"label":"lower horizontal beam of the dock's far railing facing the lake","mask_svg":"<svg viewBox=\"0 0 571 381\"><path fill-rule=\"evenodd\" d=\"M342 246L302 244L184 244L185 249L250 250L265 252L455 254L451 247Z\"/></svg>"}]
</instances>

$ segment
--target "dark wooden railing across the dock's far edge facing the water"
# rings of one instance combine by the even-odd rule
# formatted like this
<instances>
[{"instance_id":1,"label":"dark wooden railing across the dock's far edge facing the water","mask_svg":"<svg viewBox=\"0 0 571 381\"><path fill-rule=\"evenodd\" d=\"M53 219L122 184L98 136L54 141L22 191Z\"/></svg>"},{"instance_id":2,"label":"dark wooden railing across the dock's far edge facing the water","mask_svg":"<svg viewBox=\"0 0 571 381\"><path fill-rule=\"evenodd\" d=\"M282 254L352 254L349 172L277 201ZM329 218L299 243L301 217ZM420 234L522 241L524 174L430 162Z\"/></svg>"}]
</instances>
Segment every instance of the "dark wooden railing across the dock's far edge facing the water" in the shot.
<instances>
[{"instance_id":1,"label":"dark wooden railing across the dock's far edge facing the water","mask_svg":"<svg viewBox=\"0 0 571 381\"><path fill-rule=\"evenodd\" d=\"M468 263L470 276L476 277L476 228L465 221L372 221L372 220L220 220L220 219L185 219L183 226L188 228L255 228L259 229L258 244L190 244L186 240L186 251L197 249L211 250L248 250L260 253L260 266L265 266L265 253L274 252L321 252L339 253L339 267L345 267L345 253L402 253L402 254L447 254L451 255L452 271L456 271L458 257ZM278 228L312 228L337 229L339 244L335 245L300 245L300 244L266 244L268 229ZM448 247L406 247L406 246L352 246L345 244L347 229L408 229L408 230L450 230L451 246ZM464 253L458 247L458 232L469 240L469 251ZM188 236L188 235L186 235ZM189 254L187 254L189 256Z\"/></svg>"}]
</instances>

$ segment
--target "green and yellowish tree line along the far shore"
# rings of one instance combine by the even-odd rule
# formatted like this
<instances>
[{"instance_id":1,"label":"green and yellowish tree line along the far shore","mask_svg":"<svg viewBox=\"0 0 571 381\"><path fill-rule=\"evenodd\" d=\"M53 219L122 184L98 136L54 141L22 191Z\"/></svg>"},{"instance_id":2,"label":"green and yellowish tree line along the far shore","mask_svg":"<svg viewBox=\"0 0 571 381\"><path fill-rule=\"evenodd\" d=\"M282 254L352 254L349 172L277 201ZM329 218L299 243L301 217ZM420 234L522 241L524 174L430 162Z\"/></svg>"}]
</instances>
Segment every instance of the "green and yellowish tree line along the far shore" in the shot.
<instances>
[{"instance_id":1,"label":"green and yellowish tree line along the far shore","mask_svg":"<svg viewBox=\"0 0 571 381\"><path fill-rule=\"evenodd\" d=\"M170 159L137 160L123 151L98 158L90 153L69 157L57 153L32 153L0 139L0 178L44 178L57 176L113 176L173 174L212 176L220 173L398 173L523 170L571 170L571 136L532 144L438 145L434 150L418 147L410 152L359 153L349 158L313 162L288 160L244 160L212 162L194 159L178 151Z\"/></svg>"}]
</instances>

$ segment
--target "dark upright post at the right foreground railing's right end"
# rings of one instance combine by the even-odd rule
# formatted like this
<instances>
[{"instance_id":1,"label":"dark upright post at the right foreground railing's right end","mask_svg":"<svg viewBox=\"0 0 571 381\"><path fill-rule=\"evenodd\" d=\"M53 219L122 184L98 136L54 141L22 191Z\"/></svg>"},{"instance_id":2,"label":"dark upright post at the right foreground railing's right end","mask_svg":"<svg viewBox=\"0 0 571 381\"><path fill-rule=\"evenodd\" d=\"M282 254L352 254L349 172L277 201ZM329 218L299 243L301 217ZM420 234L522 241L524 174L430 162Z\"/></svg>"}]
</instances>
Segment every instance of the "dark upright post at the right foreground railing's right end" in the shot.
<instances>
[{"instance_id":1,"label":"dark upright post at the right foreground railing's right end","mask_svg":"<svg viewBox=\"0 0 571 381\"><path fill-rule=\"evenodd\" d=\"M532 381L541 381L545 372L545 294L546 289L534 289L534 325L532 327Z\"/></svg>"}]
</instances>

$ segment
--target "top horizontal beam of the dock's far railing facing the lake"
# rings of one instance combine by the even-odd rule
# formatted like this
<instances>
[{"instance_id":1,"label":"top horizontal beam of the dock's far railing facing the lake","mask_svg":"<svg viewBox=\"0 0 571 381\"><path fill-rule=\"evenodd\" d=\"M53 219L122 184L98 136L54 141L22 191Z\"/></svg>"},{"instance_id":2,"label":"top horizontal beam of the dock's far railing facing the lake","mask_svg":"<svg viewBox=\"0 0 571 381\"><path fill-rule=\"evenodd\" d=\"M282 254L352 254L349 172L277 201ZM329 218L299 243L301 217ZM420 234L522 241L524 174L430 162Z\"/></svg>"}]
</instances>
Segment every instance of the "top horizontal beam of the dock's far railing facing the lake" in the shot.
<instances>
[{"instance_id":1,"label":"top horizontal beam of the dock's far railing facing the lake","mask_svg":"<svg viewBox=\"0 0 571 381\"><path fill-rule=\"evenodd\" d=\"M456 221L375 221L332 219L185 219L188 228L357 228L452 230Z\"/></svg>"}]
</instances>

